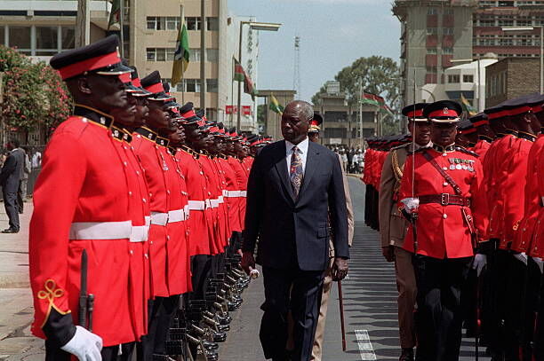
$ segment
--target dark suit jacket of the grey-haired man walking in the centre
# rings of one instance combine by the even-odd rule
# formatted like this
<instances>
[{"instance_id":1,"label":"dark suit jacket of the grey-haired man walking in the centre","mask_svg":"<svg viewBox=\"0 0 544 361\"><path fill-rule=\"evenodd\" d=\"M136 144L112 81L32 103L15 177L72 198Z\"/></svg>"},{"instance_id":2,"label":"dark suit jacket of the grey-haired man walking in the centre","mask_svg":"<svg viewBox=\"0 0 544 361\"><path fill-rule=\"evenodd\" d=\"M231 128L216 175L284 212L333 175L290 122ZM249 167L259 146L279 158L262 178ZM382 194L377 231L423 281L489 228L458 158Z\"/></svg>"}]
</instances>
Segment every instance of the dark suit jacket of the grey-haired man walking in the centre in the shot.
<instances>
[{"instance_id":1,"label":"dark suit jacket of the grey-haired man walking in the centre","mask_svg":"<svg viewBox=\"0 0 544 361\"><path fill-rule=\"evenodd\" d=\"M257 262L263 266L322 271L329 260L331 234L335 255L349 258L346 197L338 156L309 142L303 183L298 200L294 200L285 142L263 148L253 161L247 186L243 251L254 251L259 239Z\"/></svg>"}]
</instances>

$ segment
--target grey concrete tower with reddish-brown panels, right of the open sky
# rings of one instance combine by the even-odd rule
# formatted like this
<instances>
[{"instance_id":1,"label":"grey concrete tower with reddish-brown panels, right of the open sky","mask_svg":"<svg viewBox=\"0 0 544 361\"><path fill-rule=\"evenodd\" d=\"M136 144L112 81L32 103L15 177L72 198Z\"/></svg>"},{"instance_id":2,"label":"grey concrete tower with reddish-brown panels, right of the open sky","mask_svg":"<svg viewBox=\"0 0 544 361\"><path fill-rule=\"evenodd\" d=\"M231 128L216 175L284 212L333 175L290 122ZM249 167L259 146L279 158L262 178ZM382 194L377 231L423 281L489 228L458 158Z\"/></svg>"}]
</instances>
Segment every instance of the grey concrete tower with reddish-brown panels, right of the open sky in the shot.
<instances>
[{"instance_id":1,"label":"grey concrete tower with reddish-brown panels, right of the open sky","mask_svg":"<svg viewBox=\"0 0 544 361\"><path fill-rule=\"evenodd\" d=\"M452 59L472 58L472 17L476 0L396 0L393 14L401 22L401 95L414 99L415 87L444 84ZM416 92L421 94L421 92Z\"/></svg>"}]
</instances>

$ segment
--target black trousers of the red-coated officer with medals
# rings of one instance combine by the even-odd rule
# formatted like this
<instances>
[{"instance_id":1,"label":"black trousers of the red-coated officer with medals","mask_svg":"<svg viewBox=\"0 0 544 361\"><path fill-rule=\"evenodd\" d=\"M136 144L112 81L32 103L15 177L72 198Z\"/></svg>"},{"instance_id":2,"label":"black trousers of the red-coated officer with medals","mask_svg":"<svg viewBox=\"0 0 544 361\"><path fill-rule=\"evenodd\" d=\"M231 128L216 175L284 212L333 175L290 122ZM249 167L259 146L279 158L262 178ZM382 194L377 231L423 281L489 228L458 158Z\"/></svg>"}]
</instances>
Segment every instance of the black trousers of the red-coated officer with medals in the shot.
<instances>
[{"instance_id":1,"label":"black trousers of the red-coated officer with medals","mask_svg":"<svg viewBox=\"0 0 544 361\"><path fill-rule=\"evenodd\" d=\"M414 256L418 286L417 361L459 360L463 319L460 295L471 262L472 257Z\"/></svg>"}]
</instances>

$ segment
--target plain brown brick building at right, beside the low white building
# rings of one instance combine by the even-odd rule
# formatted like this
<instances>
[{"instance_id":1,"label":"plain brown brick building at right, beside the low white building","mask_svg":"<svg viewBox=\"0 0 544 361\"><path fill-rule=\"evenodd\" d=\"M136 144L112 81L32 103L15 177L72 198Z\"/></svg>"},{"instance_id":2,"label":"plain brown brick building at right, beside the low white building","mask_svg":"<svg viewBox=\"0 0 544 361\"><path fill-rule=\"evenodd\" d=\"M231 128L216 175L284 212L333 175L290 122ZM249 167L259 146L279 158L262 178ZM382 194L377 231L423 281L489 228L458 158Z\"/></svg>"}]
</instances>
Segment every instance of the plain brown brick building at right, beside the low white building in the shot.
<instances>
[{"instance_id":1,"label":"plain brown brick building at right, beside the low white building","mask_svg":"<svg viewBox=\"0 0 544 361\"><path fill-rule=\"evenodd\" d=\"M485 106L540 91L540 59L505 58L489 67L485 74Z\"/></svg>"}]
</instances>

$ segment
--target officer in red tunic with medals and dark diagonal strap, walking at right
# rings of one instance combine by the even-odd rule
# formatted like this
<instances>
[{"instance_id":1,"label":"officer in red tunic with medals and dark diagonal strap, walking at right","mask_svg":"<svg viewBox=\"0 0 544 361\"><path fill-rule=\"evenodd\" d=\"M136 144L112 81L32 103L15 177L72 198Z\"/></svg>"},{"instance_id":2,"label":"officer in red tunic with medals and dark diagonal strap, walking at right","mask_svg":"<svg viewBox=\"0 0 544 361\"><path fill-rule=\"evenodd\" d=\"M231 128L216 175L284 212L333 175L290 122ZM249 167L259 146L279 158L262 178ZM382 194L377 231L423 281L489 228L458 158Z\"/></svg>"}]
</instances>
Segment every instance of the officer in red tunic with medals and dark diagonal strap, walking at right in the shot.
<instances>
[{"instance_id":1,"label":"officer in red tunic with medals and dark diagonal strap, walking at right","mask_svg":"<svg viewBox=\"0 0 544 361\"><path fill-rule=\"evenodd\" d=\"M475 246L486 239L482 164L454 145L461 111L449 100L424 109L433 146L408 157L400 188L399 207L418 215L404 240L415 254L418 360L459 359L460 290ZM477 259L484 263L484 256Z\"/></svg>"}]
</instances>

